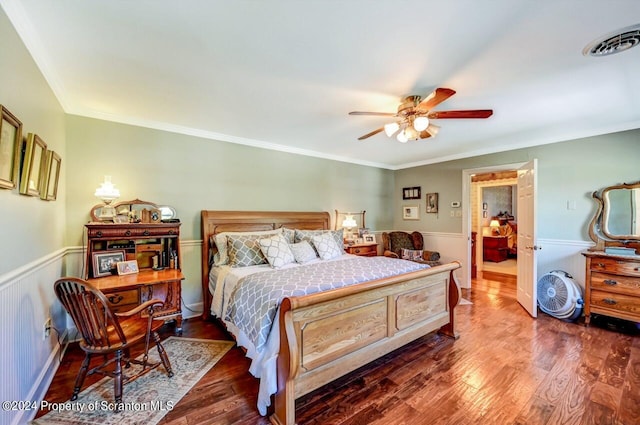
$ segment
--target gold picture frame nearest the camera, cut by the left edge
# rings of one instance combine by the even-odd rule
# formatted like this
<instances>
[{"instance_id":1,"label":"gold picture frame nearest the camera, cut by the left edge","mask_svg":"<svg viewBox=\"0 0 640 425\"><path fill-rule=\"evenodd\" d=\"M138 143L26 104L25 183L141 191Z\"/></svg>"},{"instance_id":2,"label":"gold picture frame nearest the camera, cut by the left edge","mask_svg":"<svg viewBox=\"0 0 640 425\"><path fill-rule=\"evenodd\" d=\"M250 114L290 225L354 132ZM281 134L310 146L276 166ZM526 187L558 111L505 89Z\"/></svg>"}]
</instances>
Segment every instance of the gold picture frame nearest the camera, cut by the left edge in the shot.
<instances>
[{"instance_id":1,"label":"gold picture frame nearest the camera, cut by the left edge","mask_svg":"<svg viewBox=\"0 0 640 425\"><path fill-rule=\"evenodd\" d=\"M0 105L0 188L18 186L21 153L22 122Z\"/></svg>"}]
</instances>

